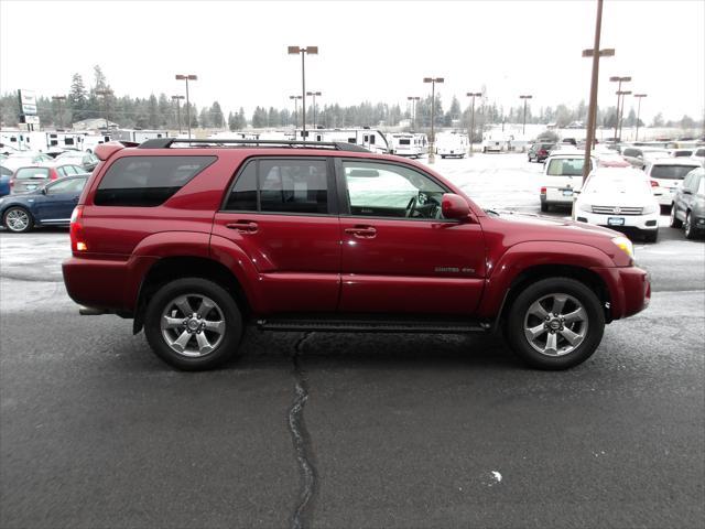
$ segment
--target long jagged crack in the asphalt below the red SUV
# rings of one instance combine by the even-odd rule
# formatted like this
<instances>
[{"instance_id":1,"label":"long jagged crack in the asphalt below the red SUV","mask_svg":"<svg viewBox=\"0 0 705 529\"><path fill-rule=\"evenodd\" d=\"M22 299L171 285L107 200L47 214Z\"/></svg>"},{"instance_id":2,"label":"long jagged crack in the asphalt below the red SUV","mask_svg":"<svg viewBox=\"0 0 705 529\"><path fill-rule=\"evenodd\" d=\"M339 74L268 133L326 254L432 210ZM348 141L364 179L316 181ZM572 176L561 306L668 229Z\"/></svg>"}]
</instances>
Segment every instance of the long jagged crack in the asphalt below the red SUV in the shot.
<instances>
[{"instance_id":1,"label":"long jagged crack in the asphalt below the red SUV","mask_svg":"<svg viewBox=\"0 0 705 529\"><path fill-rule=\"evenodd\" d=\"M312 335L313 333L308 332L299 338L294 345L294 354L291 357L294 367L295 397L291 408L289 408L289 431L303 482L303 487L299 494L299 503L291 518L292 529L302 529L306 527L306 522L310 525L313 508L312 499L316 493L317 485L311 435L304 422L304 406L308 400L308 381L300 363L302 347Z\"/></svg>"}]
</instances>

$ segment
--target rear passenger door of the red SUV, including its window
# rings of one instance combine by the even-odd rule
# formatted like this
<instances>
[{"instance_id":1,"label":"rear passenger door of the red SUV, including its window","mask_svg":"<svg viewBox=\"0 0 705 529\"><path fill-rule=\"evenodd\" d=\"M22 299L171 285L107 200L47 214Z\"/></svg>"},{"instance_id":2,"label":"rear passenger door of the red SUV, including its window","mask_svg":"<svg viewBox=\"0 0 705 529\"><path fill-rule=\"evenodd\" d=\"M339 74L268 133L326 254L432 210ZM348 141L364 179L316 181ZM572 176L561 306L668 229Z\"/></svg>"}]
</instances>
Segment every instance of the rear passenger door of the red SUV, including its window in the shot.
<instances>
[{"instance_id":1,"label":"rear passenger door of the red SUV, including its window","mask_svg":"<svg viewBox=\"0 0 705 529\"><path fill-rule=\"evenodd\" d=\"M213 234L250 257L268 313L336 310L340 228L334 182L327 158L250 159L216 214Z\"/></svg>"}]
</instances>

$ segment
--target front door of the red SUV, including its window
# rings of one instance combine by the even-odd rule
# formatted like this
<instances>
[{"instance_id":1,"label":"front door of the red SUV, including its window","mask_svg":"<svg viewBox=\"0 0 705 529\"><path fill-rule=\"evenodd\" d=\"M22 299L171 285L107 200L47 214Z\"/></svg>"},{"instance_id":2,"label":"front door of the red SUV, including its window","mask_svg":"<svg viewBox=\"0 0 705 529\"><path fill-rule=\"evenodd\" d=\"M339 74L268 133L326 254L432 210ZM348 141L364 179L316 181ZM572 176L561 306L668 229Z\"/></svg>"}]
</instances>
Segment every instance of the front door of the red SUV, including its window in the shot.
<instances>
[{"instance_id":1,"label":"front door of the red SUV, including its window","mask_svg":"<svg viewBox=\"0 0 705 529\"><path fill-rule=\"evenodd\" d=\"M341 312L471 314L482 293L480 225L443 218L445 188L393 162L336 162Z\"/></svg>"}]
</instances>

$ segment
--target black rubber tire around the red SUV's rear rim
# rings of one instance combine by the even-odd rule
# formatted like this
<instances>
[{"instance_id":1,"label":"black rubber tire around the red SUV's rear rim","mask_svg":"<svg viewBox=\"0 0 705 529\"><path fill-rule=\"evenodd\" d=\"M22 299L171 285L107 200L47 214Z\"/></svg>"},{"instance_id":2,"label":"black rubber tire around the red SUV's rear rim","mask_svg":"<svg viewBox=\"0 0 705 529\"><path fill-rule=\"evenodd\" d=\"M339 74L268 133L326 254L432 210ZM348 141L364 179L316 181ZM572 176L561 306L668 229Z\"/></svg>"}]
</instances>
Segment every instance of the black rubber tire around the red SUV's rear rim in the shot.
<instances>
[{"instance_id":1,"label":"black rubber tire around the red SUV's rear rim","mask_svg":"<svg viewBox=\"0 0 705 529\"><path fill-rule=\"evenodd\" d=\"M182 295L203 295L216 304L225 320L225 331L213 350L203 356L185 356L174 350L162 334L161 320L173 300ZM176 319L182 316L176 315ZM206 314L203 314L206 317ZM185 326L183 327L185 330ZM180 332L181 328L175 331ZM204 332L205 334L205 332ZM144 314L144 335L156 356L170 366L187 371L213 369L229 360L242 337L242 315L232 296L219 284L200 278L177 279L163 285L150 300ZM191 339L191 338L189 338Z\"/></svg>"}]
</instances>

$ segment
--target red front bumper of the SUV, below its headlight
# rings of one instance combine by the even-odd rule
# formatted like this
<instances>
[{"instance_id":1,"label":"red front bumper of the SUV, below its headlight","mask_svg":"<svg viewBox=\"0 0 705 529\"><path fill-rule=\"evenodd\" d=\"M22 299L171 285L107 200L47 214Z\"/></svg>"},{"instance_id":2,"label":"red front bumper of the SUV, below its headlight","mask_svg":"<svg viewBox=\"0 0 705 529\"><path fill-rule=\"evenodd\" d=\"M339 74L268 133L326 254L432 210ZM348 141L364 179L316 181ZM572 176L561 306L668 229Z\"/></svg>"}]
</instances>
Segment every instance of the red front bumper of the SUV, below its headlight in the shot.
<instances>
[{"instance_id":1,"label":"red front bumper of the SUV, below its headlight","mask_svg":"<svg viewBox=\"0 0 705 529\"><path fill-rule=\"evenodd\" d=\"M609 313L612 320L643 311L651 302L649 273L638 267L593 268L609 290Z\"/></svg>"}]
</instances>

